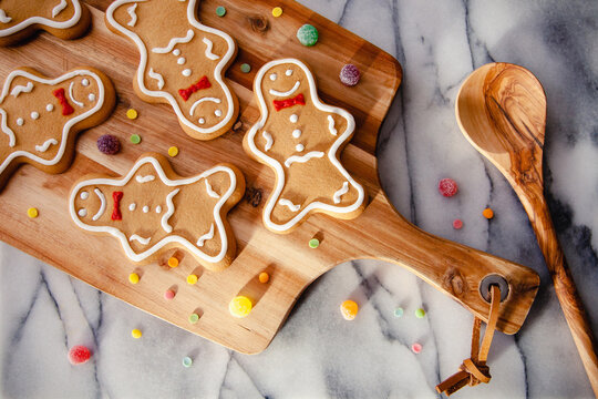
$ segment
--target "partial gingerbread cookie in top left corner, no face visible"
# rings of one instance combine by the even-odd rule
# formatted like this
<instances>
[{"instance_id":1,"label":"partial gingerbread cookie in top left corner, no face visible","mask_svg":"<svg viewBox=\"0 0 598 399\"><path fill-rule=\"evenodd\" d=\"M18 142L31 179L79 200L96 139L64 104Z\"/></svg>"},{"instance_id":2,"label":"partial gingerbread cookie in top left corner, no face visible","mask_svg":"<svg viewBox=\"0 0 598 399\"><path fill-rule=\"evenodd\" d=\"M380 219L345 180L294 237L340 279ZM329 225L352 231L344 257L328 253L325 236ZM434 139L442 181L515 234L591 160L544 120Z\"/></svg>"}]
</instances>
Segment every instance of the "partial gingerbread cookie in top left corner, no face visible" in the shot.
<instances>
[{"instance_id":1,"label":"partial gingerbread cookie in top left corner, no face visible","mask_svg":"<svg viewBox=\"0 0 598 399\"><path fill-rule=\"evenodd\" d=\"M2 0L0 45L16 43L38 30L75 39L90 25L90 11L79 0Z\"/></svg>"}]
</instances>

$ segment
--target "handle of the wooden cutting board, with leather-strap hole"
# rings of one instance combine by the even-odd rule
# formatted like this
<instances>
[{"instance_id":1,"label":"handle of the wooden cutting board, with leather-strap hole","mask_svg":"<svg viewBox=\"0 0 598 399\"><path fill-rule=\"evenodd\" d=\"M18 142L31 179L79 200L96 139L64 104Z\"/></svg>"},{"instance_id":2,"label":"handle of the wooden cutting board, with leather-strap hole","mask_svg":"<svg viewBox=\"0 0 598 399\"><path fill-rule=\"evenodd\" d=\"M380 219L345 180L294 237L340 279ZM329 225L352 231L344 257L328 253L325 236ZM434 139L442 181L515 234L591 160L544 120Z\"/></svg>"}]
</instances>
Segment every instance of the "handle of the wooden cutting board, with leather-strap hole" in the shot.
<instances>
[{"instance_id":1,"label":"handle of the wooden cutting board, with leather-strap hole","mask_svg":"<svg viewBox=\"0 0 598 399\"><path fill-rule=\"evenodd\" d=\"M484 252L433 236L405 221L379 191L363 214L352 221L364 248L357 257L374 257L403 266L453 297L483 320L489 304L482 280L498 275L508 284L497 328L515 334L524 323L539 287L532 269ZM487 321L487 320L486 320Z\"/></svg>"}]
</instances>

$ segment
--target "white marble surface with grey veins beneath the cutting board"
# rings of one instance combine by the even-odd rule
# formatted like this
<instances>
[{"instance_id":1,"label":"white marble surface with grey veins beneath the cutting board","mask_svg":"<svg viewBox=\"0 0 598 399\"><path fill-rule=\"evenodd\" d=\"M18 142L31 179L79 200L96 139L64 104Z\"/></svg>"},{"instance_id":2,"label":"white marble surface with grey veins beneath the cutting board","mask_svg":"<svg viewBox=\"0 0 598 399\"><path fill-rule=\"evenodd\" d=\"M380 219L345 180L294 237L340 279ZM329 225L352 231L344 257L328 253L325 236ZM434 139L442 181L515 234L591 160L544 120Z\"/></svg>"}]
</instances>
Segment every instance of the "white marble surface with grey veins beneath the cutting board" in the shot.
<instances>
[{"instance_id":1,"label":"white marble surface with grey veins beneath the cutting board","mask_svg":"<svg viewBox=\"0 0 598 399\"><path fill-rule=\"evenodd\" d=\"M422 228L536 269L542 287L519 334L497 334L488 386L461 398L591 397L526 215L502 175L461 135L461 82L491 61L530 69L548 96L547 195L598 331L598 3L596 1L301 0L394 54L404 83L384 124L383 186ZM457 197L436 193L441 177ZM488 223L485 206L496 212ZM454 231L461 217L465 227ZM231 352L0 245L0 396L6 398L434 397L467 356L472 316L399 267L343 264L313 284L271 346ZM338 305L361 305L353 323ZM402 306L405 315L394 318ZM413 310L423 306L426 318ZM144 336L133 340L130 331ZM410 346L423 344L414 355ZM73 367L68 348L93 361ZM185 369L184 356L195 362Z\"/></svg>"}]
</instances>

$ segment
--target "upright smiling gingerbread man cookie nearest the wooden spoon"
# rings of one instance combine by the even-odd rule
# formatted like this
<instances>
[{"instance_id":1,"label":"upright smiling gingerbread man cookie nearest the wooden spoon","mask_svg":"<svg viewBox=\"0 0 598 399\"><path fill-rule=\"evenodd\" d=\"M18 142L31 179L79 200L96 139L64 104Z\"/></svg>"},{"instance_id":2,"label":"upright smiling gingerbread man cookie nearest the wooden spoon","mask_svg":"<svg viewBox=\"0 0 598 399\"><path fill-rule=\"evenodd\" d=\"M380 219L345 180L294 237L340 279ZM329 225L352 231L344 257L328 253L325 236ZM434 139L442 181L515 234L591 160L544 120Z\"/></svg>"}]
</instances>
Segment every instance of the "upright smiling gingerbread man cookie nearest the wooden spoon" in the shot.
<instances>
[{"instance_id":1,"label":"upright smiling gingerbread man cookie nearest the wooden spoon","mask_svg":"<svg viewBox=\"0 0 598 399\"><path fill-rule=\"evenodd\" d=\"M299 60L268 62L254 82L261 117L244 140L245 151L276 173L264 208L266 227L289 233L311 213L354 218L365 191L341 165L353 116L323 104L311 71Z\"/></svg>"}]
</instances>

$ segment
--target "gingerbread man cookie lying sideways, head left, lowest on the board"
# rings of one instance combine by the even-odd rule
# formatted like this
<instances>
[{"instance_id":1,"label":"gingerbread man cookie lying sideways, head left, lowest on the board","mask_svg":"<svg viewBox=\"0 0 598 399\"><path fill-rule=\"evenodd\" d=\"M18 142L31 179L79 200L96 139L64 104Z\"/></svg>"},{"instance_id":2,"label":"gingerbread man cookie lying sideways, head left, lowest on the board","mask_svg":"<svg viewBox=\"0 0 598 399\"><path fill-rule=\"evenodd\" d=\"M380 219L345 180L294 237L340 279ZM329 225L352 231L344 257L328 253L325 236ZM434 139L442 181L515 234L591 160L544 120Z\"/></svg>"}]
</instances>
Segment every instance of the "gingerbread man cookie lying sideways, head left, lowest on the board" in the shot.
<instances>
[{"instance_id":1,"label":"gingerbread man cookie lying sideways, head left, lowest on the board","mask_svg":"<svg viewBox=\"0 0 598 399\"><path fill-rule=\"evenodd\" d=\"M118 238L133 262L148 263L179 247L218 270L235 256L226 214L244 192L245 178L233 165L181 177L164 156L145 154L122 178L80 180L71 190L69 206L79 227Z\"/></svg>"}]
</instances>

